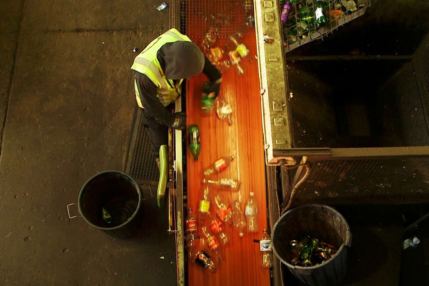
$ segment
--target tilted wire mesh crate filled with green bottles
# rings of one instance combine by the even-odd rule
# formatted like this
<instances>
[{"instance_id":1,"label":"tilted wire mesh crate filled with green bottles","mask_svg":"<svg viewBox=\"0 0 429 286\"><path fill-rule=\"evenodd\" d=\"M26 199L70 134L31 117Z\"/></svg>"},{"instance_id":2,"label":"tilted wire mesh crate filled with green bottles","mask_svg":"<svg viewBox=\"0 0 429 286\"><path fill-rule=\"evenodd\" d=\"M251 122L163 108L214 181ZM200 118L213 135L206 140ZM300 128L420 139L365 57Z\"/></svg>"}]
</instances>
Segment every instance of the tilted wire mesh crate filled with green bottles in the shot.
<instances>
[{"instance_id":1,"label":"tilted wire mesh crate filled with green bottles","mask_svg":"<svg viewBox=\"0 0 429 286\"><path fill-rule=\"evenodd\" d=\"M318 2L316 0L289 0L289 9L285 9L282 2L280 1L280 11L283 19L287 13L287 20L283 22L285 52L313 40L322 39L339 26L363 15L371 4L370 0L319 1L319 4L323 6L323 16L327 23L318 24Z\"/></svg>"}]
</instances>

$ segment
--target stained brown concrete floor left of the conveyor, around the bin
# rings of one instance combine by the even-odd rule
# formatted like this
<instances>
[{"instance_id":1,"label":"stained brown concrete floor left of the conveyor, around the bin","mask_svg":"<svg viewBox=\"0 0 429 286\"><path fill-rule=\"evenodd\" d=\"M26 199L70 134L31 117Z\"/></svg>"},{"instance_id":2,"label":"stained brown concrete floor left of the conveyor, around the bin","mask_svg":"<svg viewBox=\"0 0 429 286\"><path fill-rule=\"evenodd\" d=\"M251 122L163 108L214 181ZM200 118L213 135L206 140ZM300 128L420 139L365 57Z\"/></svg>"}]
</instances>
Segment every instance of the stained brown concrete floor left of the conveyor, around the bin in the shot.
<instances>
[{"instance_id":1,"label":"stained brown concrete floor left of the conveyor, around the bin","mask_svg":"<svg viewBox=\"0 0 429 286\"><path fill-rule=\"evenodd\" d=\"M160 2L0 5L0 285L176 285L174 237L155 199L144 200L146 219L130 240L69 219L66 209L90 177L124 168L132 49L169 28ZM429 22L413 8L426 1L372 2L376 24L382 15L411 31ZM350 272L348 285L356 277Z\"/></svg>"}]
</instances>

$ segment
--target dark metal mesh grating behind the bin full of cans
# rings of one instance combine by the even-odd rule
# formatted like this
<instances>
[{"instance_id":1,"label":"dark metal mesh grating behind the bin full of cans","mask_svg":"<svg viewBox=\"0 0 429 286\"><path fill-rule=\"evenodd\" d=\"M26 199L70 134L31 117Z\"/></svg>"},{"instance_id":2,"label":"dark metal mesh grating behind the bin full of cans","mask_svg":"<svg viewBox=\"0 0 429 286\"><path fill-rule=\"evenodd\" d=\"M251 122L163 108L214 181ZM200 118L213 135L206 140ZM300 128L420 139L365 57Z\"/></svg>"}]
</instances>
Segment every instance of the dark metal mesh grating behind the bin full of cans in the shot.
<instances>
[{"instance_id":1,"label":"dark metal mesh grating behind the bin full of cans","mask_svg":"<svg viewBox=\"0 0 429 286\"><path fill-rule=\"evenodd\" d=\"M429 158L311 162L294 205L402 204L429 200Z\"/></svg>"}]
</instances>

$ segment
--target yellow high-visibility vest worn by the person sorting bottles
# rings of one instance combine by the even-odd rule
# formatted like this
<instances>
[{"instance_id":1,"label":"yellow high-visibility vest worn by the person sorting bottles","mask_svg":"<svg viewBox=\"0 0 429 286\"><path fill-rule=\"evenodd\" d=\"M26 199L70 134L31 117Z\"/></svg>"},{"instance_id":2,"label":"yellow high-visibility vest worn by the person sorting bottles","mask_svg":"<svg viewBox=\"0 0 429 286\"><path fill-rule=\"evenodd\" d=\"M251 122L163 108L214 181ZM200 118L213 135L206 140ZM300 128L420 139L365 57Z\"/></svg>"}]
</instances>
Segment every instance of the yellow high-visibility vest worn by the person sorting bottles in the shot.
<instances>
[{"instance_id":1,"label":"yellow high-visibility vest worn by the person sorting bottles","mask_svg":"<svg viewBox=\"0 0 429 286\"><path fill-rule=\"evenodd\" d=\"M167 80L156 55L158 50L164 44L176 41L191 42L191 39L181 34L175 28L172 28L149 43L149 45L147 45L147 47L134 59L134 63L131 66L132 70L146 75L156 85L157 96L164 106L173 102L181 94L181 84L183 79L178 81L176 84L174 84L172 80ZM143 107L135 80L134 89L137 104L138 106Z\"/></svg>"}]
</instances>

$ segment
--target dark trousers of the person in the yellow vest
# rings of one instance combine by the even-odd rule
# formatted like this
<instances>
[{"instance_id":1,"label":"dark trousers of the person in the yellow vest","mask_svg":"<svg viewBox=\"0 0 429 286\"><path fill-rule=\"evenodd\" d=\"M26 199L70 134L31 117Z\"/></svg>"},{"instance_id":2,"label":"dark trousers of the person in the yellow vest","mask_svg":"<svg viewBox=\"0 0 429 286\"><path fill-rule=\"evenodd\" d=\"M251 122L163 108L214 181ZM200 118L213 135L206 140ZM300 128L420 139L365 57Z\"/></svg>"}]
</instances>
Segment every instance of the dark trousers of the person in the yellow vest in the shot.
<instances>
[{"instance_id":1,"label":"dark trousers of the person in the yellow vest","mask_svg":"<svg viewBox=\"0 0 429 286\"><path fill-rule=\"evenodd\" d=\"M152 155L155 158L159 158L159 147L161 147L161 145L168 145L168 126L156 121L156 119L150 116L144 108L143 116L143 126L147 128L149 132Z\"/></svg>"}]
</instances>

